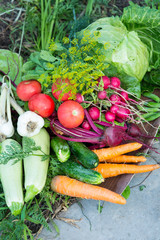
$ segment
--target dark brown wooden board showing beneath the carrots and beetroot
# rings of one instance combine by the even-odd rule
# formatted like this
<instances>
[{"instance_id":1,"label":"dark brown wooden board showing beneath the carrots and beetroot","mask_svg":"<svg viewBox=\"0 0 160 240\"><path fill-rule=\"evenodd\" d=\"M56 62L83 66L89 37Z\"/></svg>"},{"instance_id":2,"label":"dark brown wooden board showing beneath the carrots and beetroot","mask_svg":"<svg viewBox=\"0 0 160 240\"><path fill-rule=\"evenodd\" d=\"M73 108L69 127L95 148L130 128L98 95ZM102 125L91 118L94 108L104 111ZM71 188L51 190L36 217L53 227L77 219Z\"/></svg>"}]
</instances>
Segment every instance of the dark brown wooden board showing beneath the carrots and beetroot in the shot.
<instances>
[{"instance_id":1,"label":"dark brown wooden board showing beneath the carrots and beetroot","mask_svg":"<svg viewBox=\"0 0 160 240\"><path fill-rule=\"evenodd\" d=\"M160 91L155 91L155 93L160 96ZM144 124L144 126L149 135L155 136L157 134L157 128L160 126L160 119L156 119L155 121L151 122L151 124L154 127L149 124ZM152 139L146 138L144 140L144 143L146 144L152 144L152 142ZM141 150L141 152L147 153L148 149L145 149L143 151ZM105 182L103 182L100 186L121 194L126 188L126 186L130 183L133 176L134 174L123 174L117 177L108 178L105 179Z\"/></svg>"}]
</instances>

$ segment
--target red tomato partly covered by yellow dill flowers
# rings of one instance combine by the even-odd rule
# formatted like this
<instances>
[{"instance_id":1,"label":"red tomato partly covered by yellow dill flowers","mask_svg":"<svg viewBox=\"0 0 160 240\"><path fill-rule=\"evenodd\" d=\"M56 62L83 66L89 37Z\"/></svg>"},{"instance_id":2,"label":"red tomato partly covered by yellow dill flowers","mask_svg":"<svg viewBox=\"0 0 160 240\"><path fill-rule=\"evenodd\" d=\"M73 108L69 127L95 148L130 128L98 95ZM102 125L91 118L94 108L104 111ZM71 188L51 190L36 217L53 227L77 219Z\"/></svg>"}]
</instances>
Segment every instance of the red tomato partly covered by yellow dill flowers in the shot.
<instances>
[{"instance_id":1,"label":"red tomato partly covered by yellow dill flowers","mask_svg":"<svg viewBox=\"0 0 160 240\"><path fill-rule=\"evenodd\" d=\"M59 95L62 93L63 88L66 87L66 83L67 83L67 85L70 84L70 82L67 78L66 79L58 78L56 80L56 82L52 84L52 94L57 100L66 101L71 96L71 92L68 92L68 93L64 93L61 98L59 97ZM54 90L57 89L57 86L59 86L59 85L62 86L61 87L62 90L58 90L56 92L53 92ZM63 85L65 85L65 86L63 86Z\"/></svg>"}]
</instances>

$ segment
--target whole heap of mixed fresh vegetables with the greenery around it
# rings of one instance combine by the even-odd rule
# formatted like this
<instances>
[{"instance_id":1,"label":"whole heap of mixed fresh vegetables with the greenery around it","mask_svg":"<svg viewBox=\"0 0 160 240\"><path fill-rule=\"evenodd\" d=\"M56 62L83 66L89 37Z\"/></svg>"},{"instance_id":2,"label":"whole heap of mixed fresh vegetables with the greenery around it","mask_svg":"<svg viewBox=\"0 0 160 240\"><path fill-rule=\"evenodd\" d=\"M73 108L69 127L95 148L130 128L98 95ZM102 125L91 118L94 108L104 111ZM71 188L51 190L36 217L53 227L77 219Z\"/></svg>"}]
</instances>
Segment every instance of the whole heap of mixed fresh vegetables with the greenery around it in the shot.
<instances>
[{"instance_id":1,"label":"whole heap of mixed fresh vegetables with the greenery around it","mask_svg":"<svg viewBox=\"0 0 160 240\"><path fill-rule=\"evenodd\" d=\"M55 37L54 9L60 3L51 7L52 16L51 2L32 8L41 18L30 50L25 45L23 54L23 44L30 46L27 24L19 51L0 49L2 239L12 239L8 224L18 229L13 239L33 239L31 225L47 227L55 208L74 198L123 205L116 176L129 179L127 174L160 168L146 154L160 154L152 144L159 140L160 97L158 89L153 92L160 86L160 80L154 85L160 71L159 10L131 3L121 16L99 16L83 25L74 8L72 29Z\"/></svg>"}]
</instances>

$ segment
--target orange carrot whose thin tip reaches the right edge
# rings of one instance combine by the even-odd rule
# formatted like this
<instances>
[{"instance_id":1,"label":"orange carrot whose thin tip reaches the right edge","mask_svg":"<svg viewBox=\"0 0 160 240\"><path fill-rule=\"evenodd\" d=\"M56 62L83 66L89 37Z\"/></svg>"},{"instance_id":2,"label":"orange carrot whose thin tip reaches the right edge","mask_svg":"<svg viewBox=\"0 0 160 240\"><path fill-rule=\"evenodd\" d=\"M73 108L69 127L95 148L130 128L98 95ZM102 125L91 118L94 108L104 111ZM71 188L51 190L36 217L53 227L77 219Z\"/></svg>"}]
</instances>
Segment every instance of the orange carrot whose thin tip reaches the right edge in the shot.
<instances>
[{"instance_id":1,"label":"orange carrot whose thin tip reaches the right edge","mask_svg":"<svg viewBox=\"0 0 160 240\"><path fill-rule=\"evenodd\" d=\"M150 172L158 168L160 168L159 164L138 166L135 164L100 163L94 170L101 173L104 178L109 178L124 173Z\"/></svg>"}]
</instances>

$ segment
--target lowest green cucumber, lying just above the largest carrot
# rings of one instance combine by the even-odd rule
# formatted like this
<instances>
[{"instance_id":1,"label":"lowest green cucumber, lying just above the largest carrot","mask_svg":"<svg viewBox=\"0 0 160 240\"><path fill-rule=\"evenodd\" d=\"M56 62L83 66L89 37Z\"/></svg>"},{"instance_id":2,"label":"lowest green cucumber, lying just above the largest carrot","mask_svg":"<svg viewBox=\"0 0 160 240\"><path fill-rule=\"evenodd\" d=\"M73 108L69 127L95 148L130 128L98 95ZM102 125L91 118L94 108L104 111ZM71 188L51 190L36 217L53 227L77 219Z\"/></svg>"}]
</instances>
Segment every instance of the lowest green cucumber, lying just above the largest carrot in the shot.
<instances>
[{"instance_id":1,"label":"lowest green cucumber, lying just above the largest carrot","mask_svg":"<svg viewBox=\"0 0 160 240\"><path fill-rule=\"evenodd\" d=\"M100 184L104 182L104 178L100 173L92 169L87 169L72 159L61 163L59 167L65 175L81 182L90 184Z\"/></svg>"}]
</instances>

